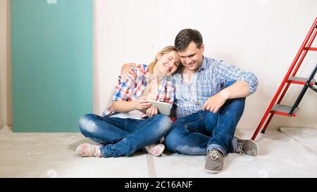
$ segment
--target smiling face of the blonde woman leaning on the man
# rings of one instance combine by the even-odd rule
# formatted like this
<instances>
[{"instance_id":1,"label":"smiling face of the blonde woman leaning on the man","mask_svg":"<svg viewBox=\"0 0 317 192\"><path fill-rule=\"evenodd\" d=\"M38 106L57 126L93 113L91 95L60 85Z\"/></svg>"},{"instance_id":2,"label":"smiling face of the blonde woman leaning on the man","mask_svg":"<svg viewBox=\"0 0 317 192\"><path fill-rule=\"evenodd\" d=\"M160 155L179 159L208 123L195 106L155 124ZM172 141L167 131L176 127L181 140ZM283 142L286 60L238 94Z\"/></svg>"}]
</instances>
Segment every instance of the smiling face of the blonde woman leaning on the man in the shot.
<instances>
[{"instance_id":1,"label":"smiling face of the blonde woman leaning on the man","mask_svg":"<svg viewBox=\"0 0 317 192\"><path fill-rule=\"evenodd\" d=\"M180 57L176 51L159 54L156 58L156 68L160 74L172 75L178 69L178 65L180 65Z\"/></svg>"}]
</instances>

